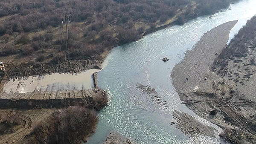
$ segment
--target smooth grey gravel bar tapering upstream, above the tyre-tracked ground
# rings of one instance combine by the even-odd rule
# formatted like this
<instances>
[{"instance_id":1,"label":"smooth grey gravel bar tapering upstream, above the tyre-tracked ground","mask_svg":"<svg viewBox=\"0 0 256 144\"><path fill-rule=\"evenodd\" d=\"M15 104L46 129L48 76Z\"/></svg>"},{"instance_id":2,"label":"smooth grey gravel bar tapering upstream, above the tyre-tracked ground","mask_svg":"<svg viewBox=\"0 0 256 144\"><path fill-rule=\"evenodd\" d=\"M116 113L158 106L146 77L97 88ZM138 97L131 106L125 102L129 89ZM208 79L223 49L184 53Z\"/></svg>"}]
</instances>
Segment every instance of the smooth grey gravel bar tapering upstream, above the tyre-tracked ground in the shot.
<instances>
[{"instance_id":1,"label":"smooth grey gravel bar tapering upstream, above the tyre-tracked ground","mask_svg":"<svg viewBox=\"0 0 256 144\"><path fill-rule=\"evenodd\" d=\"M210 67L217 58L215 54L226 46L230 30L236 23L237 20L223 23L205 33L195 44L194 49L185 53L184 60L175 65L171 75L178 94L206 91L212 87L207 81L207 78L215 78L215 74L209 71Z\"/></svg>"}]
</instances>

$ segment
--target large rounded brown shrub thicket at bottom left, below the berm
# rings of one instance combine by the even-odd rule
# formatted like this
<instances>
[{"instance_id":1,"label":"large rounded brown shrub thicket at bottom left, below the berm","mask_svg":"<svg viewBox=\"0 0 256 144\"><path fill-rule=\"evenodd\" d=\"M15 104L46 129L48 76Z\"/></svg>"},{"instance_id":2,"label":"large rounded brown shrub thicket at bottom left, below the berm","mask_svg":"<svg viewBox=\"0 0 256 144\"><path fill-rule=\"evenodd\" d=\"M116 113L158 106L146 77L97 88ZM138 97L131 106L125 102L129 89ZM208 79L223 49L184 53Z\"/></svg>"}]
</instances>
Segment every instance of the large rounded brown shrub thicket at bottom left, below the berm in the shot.
<instances>
[{"instance_id":1,"label":"large rounded brown shrub thicket at bottom left, below the berm","mask_svg":"<svg viewBox=\"0 0 256 144\"><path fill-rule=\"evenodd\" d=\"M48 119L48 118L47 118ZM48 120L38 123L25 138L26 144L78 144L96 127L98 117L93 110L84 107L69 107L56 110ZM45 141L46 140L46 141Z\"/></svg>"}]
</instances>

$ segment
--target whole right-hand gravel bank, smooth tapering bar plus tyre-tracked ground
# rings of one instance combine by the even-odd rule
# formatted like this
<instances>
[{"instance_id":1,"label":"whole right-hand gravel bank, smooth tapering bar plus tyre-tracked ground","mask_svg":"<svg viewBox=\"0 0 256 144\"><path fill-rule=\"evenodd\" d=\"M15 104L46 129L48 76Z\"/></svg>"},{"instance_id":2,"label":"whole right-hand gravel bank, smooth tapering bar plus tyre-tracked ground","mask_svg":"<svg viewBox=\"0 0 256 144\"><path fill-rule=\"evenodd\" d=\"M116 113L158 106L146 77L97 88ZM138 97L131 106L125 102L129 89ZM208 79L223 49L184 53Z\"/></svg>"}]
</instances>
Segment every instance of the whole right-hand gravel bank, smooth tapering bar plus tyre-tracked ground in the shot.
<instances>
[{"instance_id":1,"label":"whole right-hand gravel bank, smooth tapering bar plus tyre-tracked ground","mask_svg":"<svg viewBox=\"0 0 256 144\"><path fill-rule=\"evenodd\" d=\"M236 23L230 21L205 33L194 49L186 52L184 60L174 67L171 75L183 104L200 117L223 128L224 138L235 133L236 136L240 135L241 141L252 142L253 138L250 139L249 135L254 134L253 128L250 128L253 123L243 117L248 115L248 109L242 110L250 107L248 100L236 91L233 80L211 71L212 63L227 46L229 32ZM244 131L239 132L240 129Z\"/></svg>"}]
</instances>

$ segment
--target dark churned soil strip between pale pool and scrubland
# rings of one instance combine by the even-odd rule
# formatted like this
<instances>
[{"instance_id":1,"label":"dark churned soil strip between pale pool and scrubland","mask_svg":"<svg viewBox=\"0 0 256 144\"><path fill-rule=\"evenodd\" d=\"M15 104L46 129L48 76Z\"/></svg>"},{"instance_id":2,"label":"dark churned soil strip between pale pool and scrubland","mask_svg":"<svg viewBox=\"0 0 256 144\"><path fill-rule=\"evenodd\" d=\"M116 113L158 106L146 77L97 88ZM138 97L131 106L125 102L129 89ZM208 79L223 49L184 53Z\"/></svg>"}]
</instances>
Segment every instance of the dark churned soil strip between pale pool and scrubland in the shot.
<instances>
[{"instance_id":1,"label":"dark churned soil strip between pale pool and scrubland","mask_svg":"<svg viewBox=\"0 0 256 144\"><path fill-rule=\"evenodd\" d=\"M21 77L30 75L46 75L55 72L79 73L88 69L101 69L101 64L110 51L105 51L101 55L87 60L66 60L64 63L36 62L35 56L21 57L19 55L4 57L6 63L6 75L11 77ZM44 55L44 54L42 54ZM47 54L45 54L47 57ZM57 60L58 61L58 60Z\"/></svg>"}]
</instances>

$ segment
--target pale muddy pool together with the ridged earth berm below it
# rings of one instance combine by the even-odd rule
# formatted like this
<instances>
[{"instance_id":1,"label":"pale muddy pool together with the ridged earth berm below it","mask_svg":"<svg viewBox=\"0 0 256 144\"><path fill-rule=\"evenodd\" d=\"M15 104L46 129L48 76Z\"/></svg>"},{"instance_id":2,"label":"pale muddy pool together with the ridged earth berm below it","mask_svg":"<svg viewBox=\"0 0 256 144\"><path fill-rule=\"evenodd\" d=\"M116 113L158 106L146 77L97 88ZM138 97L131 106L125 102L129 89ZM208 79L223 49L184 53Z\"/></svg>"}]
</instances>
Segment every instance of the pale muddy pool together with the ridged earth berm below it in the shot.
<instances>
[{"instance_id":1,"label":"pale muddy pool together with the ridged earth berm below it","mask_svg":"<svg viewBox=\"0 0 256 144\"><path fill-rule=\"evenodd\" d=\"M105 106L101 101L108 98L104 90L97 88L96 75L95 70L90 69L78 75L54 74L42 78L31 76L9 81L0 95L0 109L79 105L99 110Z\"/></svg>"}]
</instances>

